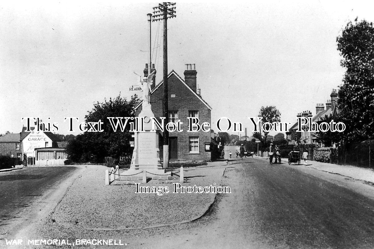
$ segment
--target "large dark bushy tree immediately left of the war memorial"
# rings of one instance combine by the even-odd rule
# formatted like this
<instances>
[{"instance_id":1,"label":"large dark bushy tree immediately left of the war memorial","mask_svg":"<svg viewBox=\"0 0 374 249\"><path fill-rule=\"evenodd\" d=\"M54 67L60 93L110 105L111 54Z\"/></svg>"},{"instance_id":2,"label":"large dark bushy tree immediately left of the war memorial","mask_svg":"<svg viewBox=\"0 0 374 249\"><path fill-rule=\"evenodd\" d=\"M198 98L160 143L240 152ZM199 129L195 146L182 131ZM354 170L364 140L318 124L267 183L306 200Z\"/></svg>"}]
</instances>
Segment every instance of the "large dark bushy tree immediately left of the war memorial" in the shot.
<instances>
[{"instance_id":1,"label":"large dark bushy tree immediately left of the war memorial","mask_svg":"<svg viewBox=\"0 0 374 249\"><path fill-rule=\"evenodd\" d=\"M129 141L131 133L127 124L125 130L113 131L107 117L134 116L133 108L137 103L137 96L130 101L120 95L115 99L105 99L102 103L95 103L93 109L85 116L86 122L101 120L103 132L85 132L70 141L67 146L69 159L74 162L103 162L106 156L118 158L123 153L132 151ZM97 128L97 127L96 127Z\"/></svg>"}]
</instances>

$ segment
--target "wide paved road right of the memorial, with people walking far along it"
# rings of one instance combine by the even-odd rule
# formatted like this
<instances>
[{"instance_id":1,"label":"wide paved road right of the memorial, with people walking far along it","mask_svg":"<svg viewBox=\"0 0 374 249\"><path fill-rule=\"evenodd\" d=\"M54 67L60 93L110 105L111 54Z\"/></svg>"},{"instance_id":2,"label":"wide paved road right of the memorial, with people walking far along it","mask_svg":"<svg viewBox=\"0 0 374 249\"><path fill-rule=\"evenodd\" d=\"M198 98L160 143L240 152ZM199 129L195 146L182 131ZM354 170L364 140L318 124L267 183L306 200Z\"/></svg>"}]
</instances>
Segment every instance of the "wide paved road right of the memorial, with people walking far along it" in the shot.
<instances>
[{"instance_id":1,"label":"wide paved road right of the memorial, with people walking far along it","mask_svg":"<svg viewBox=\"0 0 374 249\"><path fill-rule=\"evenodd\" d=\"M374 248L374 200L341 186L344 177L309 169L313 175L288 164L270 165L264 159L239 159L230 164L224 182L232 193L219 196L205 221L163 237L159 245ZM142 243L152 248L155 241Z\"/></svg>"}]
</instances>

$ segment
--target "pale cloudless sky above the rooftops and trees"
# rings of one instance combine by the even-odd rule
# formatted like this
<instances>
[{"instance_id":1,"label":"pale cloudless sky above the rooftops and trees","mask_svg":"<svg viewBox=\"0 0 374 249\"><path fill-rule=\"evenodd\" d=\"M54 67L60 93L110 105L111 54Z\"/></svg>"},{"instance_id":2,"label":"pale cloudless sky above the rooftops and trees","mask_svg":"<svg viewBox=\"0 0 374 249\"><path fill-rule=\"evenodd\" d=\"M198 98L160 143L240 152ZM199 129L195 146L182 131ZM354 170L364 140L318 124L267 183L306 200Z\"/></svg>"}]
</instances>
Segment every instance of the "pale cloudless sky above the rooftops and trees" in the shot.
<instances>
[{"instance_id":1,"label":"pale cloudless sky above the rooftops and trees","mask_svg":"<svg viewBox=\"0 0 374 249\"><path fill-rule=\"evenodd\" d=\"M148 61L147 13L158 3L9 1L0 5L0 133L22 117L80 122L93 103L121 96ZM178 2L168 20L168 71L195 63L212 128L274 105L282 122L315 114L344 75L336 37L347 22L374 21L371 1ZM162 22L152 23L156 82L162 80ZM249 133L248 130L248 133ZM78 134L76 130L73 134ZM229 131L229 133L232 133ZM237 134L237 133L235 133ZM270 133L276 134L276 133Z\"/></svg>"}]
</instances>

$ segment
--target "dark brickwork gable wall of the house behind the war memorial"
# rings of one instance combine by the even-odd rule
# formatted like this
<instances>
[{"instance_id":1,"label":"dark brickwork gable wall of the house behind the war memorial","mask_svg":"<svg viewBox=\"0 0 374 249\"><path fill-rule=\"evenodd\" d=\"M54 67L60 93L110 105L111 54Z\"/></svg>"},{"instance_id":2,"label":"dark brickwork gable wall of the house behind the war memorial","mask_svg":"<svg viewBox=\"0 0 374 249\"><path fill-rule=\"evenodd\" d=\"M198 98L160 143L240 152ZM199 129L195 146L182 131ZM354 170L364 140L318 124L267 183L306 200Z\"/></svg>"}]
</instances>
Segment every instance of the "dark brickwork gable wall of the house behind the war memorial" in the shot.
<instances>
[{"instance_id":1,"label":"dark brickwork gable wall of the house behind the war memorial","mask_svg":"<svg viewBox=\"0 0 374 249\"><path fill-rule=\"evenodd\" d=\"M168 107L169 111L178 111L178 119L183 122L181 128L183 132L169 133L169 137L177 137L178 139L178 160L181 161L201 161L210 160L211 152L205 152L205 143L211 142L211 132L187 132L188 130L188 111L199 111L200 125L203 122L211 124L211 110L199 100L190 89L184 85L175 74L171 74L168 78ZM175 97L171 97L175 94ZM151 106L156 118L162 117L162 85L151 94ZM135 111L135 116L141 112L141 105ZM199 137L199 154L189 153L189 137ZM162 155L162 142L160 143L160 154Z\"/></svg>"}]
</instances>

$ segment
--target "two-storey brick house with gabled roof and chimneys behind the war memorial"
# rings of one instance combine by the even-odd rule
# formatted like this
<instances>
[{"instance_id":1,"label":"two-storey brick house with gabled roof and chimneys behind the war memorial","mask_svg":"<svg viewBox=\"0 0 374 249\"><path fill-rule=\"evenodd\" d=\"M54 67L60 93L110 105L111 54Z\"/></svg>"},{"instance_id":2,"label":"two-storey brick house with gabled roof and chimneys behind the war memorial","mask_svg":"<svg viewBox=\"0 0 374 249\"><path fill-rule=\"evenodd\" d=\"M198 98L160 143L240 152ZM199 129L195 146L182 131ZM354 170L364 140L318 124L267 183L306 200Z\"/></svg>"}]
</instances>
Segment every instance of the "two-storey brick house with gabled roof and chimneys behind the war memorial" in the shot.
<instances>
[{"instance_id":1,"label":"two-storey brick house with gabled roof and chimneys behind the war memorial","mask_svg":"<svg viewBox=\"0 0 374 249\"><path fill-rule=\"evenodd\" d=\"M147 77L148 71L146 69L144 69L144 74ZM211 124L212 108L200 96L200 89L197 89L196 85L196 75L194 64L186 64L184 80L174 70L168 75L168 122L176 123L178 119L183 122L181 125L182 132L169 133L170 160L202 161L211 159L211 149L206 149L206 146L211 144L211 132L187 132L187 117L199 118L200 124L203 122ZM163 116L162 86L163 80L154 86L151 91L152 111L157 118ZM138 116L141 110L140 102L134 108L135 116ZM159 139L160 158L162 158L162 133L160 133Z\"/></svg>"}]
</instances>

